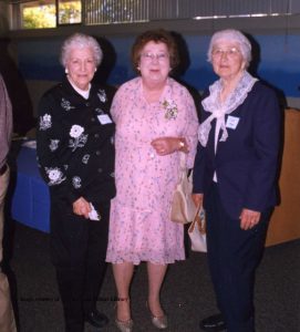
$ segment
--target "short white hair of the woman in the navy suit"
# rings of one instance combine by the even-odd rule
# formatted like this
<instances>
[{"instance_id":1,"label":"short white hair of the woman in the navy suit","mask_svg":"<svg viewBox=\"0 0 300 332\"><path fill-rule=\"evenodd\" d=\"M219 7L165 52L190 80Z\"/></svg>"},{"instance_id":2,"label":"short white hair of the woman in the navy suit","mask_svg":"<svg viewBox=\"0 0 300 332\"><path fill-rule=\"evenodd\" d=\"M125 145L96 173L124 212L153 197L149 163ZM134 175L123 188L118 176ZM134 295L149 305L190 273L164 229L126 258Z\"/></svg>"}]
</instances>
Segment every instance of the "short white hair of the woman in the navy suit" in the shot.
<instances>
[{"instance_id":1,"label":"short white hair of the woman in the navy suit","mask_svg":"<svg viewBox=\"0 0 300 332\"><path fill-rule=\"evenodd\" d=\"M244 33L235 29L220 30L213 34L207 52L208 61L211 62L213 49L215 44L220 40L232 41L238 43L242 59L246 61L246 68L248 68L252 59L251 44Z\"/></svg>"}]
</instances>

